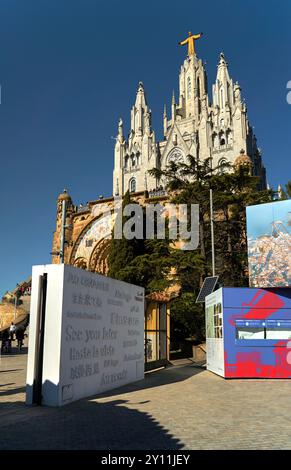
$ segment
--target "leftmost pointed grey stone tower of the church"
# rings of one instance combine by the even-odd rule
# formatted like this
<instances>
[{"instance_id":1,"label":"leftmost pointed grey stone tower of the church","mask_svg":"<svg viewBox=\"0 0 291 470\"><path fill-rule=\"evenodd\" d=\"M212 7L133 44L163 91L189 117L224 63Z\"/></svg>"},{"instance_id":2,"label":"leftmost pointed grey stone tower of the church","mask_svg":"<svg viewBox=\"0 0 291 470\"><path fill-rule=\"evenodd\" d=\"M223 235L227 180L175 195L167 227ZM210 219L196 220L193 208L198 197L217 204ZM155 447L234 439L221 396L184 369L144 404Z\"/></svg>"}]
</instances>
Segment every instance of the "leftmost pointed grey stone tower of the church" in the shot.
<instances>
[{"instance_id":1,"label":"leftmost pointed grey stone tower of the church","mask_svg":"<svg viewBox=\"0 0 291 470\"><path fill-rule=\"evenodd\" d=\"M151 110L148 107L145 90L139 82L136 99L131 108L131 123L128 140L124 139L123 124L119 122L115 144L113 171L113 194L124 195L127 190L139 192L151 187L155 181L148 170L157 166L155 133L151 126Z\"/></svg>"}]
</instances>

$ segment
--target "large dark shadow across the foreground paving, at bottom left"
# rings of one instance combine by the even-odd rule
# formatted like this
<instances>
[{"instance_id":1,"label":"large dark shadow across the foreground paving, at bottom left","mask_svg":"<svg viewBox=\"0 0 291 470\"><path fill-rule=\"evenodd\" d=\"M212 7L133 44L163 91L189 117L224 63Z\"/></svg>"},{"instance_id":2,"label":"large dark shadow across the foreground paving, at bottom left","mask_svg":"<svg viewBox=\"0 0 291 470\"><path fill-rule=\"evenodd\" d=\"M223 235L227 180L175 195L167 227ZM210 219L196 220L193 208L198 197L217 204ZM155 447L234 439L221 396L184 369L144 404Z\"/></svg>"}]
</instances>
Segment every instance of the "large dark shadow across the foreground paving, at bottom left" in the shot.
<instances>
[{"instance_id":1,"label":"large dark shadow across the foreground paving, at bottom left","mask_svg":"<svg viewBox=\"0 0 291 470\"><path fill-rule=\"evenodd\" d=\"M27 408L27 419L8 419L4 426L0 422L0 449L183 448L149 413L128 408L127 403L81 400L63 408Z\"/></svg>"}]
</instances>

